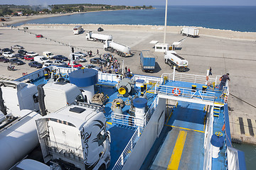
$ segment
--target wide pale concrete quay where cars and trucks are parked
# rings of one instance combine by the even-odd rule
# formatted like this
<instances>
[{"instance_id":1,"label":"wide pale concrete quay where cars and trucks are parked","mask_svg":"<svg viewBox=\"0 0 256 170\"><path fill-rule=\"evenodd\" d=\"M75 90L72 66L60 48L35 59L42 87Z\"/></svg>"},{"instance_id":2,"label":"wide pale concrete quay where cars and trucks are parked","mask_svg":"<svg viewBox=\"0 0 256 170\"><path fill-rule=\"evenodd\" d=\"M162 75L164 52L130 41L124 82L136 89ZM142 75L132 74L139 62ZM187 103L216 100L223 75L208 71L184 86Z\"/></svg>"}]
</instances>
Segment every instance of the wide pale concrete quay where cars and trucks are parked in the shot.
<instances>
[{"instance_id":1,"label":"wide pale concrete quay where cars and trucks are parked","mask_svg":"<svg viewBox=\"0 0 256 170\"><path fill-rule=\"evenodd\" d=\"M23 26L22 26L23 27ZM117 26L116 26L117 27ZM104 27L103 27L104 28ZM164 33L159 28L144 31L143 29L125 30L124 28L104 28L102 34L110 34L114 41L131 47L132 57L117 57L119 62L124 61L124 66L131 69L134 74L144 74L161 77L163 73L171 73L173 70L164 63L164 54L155 52L156 69L154 73L142 72L139 64L139 52L141 50L154 51L153 46L149 44L151 40L163 42ZM72 29L64 28L29 28L26 33L23 30L1 28L0 29L0 48L11 47L13 45L22 45L27 51L37 52L42 55L44 51L50 51L56 55L68 56L70 54L70 44L75 47L75 51L92 50L94 55L96 50L105 53L101 42L92 42L85 40L85 33L88 30L97 32L96 27L85 28L85 32L80 35L73 35ZM31 34L30 34L31 33ZM45 38L36 38L33 34L42 34ZM46 39L47 38L47 39ZM217 38L213 35L201 35L199 38L186 38L177 32L169 31L166 33L166 42L172 44L174 41L182 40L178 55L188 60L188 74L206 74L206 70L212 67L213 76L230 73L230 97L228 105L230 107L230 127L232 137L242 139L243 142L256 143L256 41L255 40L233 40L233 38ZM66 45L67 44L67 45ZM87 60L90 60L87 58ZM85 62L83 64L88 64ZM6 69L8 64L0 63L1 79L17 79L22 73L34 72L35 68L25 65L16 66L16 71L10 72ZM242 118L242 121L241 119ZM254 136L247 130L250 127L250 119ZM243 122L245 134L240 132ZM248 124L249 122L249 124ZM242 138L241 138L242 137Z\"/></svg>"}]
</instances>

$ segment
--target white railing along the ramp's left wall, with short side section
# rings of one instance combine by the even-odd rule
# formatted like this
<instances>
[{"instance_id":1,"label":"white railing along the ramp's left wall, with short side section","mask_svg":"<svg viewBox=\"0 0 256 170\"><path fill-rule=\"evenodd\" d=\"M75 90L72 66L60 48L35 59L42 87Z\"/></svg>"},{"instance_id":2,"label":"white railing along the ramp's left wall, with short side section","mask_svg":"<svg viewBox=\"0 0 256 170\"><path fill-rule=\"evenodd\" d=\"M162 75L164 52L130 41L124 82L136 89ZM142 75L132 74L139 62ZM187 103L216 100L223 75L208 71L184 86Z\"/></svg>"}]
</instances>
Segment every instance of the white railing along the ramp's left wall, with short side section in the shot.
<instances>
[{"instance_id":1,"label":"white railing along the ramp's left wall, with short side section","mask_svg":"<svg viewBox=\"0 0 256 170\"><path fill-rule=\"evenodd\" d=\"M120 155L120 157L117 160L116 164L114 164L114 167L113 167L114 170L122 169L122 167L124 166L124 163L126 162L127 158L129 157L129 154L132 153L132 149L136 145L136 143L139 140L139 137L142 134L144 128L146 128L146 124L149 122L149 120L151 118L151 115L153 115L153 113L154 113L154 111L156 109L157 100L158 100L158 98L156 98L154 100L154 102L151 104L149 110L144 115L144 119L143 119L142 125L141 126L137 126L137 130L134 132L134 135L132 136L131 140L129 140L127 146L124 148L124 151ZM115 121L114 123L121 123L121 125L131 126L131 125L129 125L129 118L134 118L134 121L136 121L136 120L141 121L140 119L137 119L134 116L128 116L128 120L125 120L125 119L127 119L127 115L124 116L122 114L117 114L117 113L112 113L112 116L119 116L119 118L123 118L124 120L121 119L121 120L119 120L119 122L116 122L115 118L112 119L112 120ZM132 127L135 127L135 126L132 126Z\"/></svg>"}]
</instances>

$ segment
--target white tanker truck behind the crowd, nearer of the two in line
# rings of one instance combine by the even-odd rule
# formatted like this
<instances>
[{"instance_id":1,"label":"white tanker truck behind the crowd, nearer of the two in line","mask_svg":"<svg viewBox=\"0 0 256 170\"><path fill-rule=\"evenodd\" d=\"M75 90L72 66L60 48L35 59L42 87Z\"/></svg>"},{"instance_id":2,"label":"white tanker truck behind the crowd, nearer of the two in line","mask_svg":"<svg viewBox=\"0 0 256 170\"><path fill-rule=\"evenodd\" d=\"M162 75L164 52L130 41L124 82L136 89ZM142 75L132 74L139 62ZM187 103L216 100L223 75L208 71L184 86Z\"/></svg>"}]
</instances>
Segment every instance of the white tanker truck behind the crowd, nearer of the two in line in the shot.
<instances>
[{"instance_id":1,"label":"white tanker truck behind the crowd, nearer of the two in line","mask_svg":"<svg viewBox=\"0 0 256 170\"><path fill-rule=\"evenodd\" d=\"M114 41L105 41L104 45L105 51L109 52L117 52L117 55L121 57L130 57L131 55L131 50L128 46L119 44Z\"/></svg>"}]
</instances>

